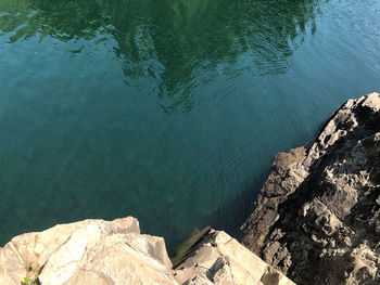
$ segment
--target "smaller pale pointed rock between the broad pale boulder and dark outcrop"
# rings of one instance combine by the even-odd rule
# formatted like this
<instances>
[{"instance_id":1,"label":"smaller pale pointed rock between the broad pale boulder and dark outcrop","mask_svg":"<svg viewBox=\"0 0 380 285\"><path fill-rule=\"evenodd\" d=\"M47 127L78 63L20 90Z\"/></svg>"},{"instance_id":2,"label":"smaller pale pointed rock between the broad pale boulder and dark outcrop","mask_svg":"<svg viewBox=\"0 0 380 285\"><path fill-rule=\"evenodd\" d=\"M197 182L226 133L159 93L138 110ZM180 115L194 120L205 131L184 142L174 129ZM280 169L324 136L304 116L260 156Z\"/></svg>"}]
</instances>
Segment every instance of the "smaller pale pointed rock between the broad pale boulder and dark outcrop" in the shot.
<instances>
[{"instance_id":1,"label":"smaller pale pointed rock between the broad pale boulder and dark outcrop","mask_svg":"<svg viewBox=\"0 0 380 285\"><path fill-rule=\"evenodd\" d=\"M268 272L278 273L282 283L263 282ZM216 285L233 284L294 284L283 274L270 268L256 255L223 231L211 231L192 249L189 257L177 265L176 278L181 284L197 284L194 276L207 278ZM267 276L265 281L268 281ZM200 283L202 284L202 283Z\"/></svg>"}]
</instances>

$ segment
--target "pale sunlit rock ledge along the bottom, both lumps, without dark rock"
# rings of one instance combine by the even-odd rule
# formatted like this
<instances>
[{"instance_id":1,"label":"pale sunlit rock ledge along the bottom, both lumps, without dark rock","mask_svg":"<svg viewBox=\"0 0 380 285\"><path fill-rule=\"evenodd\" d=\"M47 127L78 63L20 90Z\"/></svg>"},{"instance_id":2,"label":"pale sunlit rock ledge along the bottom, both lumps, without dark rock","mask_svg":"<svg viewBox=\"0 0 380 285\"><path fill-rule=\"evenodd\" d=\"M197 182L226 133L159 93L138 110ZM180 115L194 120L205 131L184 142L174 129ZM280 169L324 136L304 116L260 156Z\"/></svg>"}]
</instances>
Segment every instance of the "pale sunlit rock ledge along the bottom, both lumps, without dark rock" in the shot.
<instances>
[{"instance_id":1,"label":"pale sunlit rock ledge along the bottom, both lumps, without dark rock","mask_svg":"<svg viewBox=\"0 0 380 285\"><path fill-rule=\"evenodd\" d=\"M225 232L212 229L173 268L164 238L141 234L138 220L127 217L60 224L14 237L0 248L0 284L294 283Z\"/></svg>"}]
</instances>

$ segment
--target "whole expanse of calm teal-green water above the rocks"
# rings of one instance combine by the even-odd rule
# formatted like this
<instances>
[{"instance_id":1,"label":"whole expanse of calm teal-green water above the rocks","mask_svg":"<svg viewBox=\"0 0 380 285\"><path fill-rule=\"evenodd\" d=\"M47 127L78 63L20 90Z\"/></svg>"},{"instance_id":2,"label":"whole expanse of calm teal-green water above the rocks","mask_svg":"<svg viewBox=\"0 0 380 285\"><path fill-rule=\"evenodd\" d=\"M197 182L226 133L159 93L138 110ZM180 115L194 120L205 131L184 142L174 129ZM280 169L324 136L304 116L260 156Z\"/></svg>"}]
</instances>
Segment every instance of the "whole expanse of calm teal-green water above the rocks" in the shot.
<instances>
[{"instance_id":1,"label":"whole expanse of calm teal-green water above the rocks","mask_svg":"<svg viewBox=\"0 0 380 285\"><path fill-rule=\"evenodd\" d=\"M237 234L278 151L380 90L378 0L0 0L0 245Z\"/></svg>"}]
</instances>

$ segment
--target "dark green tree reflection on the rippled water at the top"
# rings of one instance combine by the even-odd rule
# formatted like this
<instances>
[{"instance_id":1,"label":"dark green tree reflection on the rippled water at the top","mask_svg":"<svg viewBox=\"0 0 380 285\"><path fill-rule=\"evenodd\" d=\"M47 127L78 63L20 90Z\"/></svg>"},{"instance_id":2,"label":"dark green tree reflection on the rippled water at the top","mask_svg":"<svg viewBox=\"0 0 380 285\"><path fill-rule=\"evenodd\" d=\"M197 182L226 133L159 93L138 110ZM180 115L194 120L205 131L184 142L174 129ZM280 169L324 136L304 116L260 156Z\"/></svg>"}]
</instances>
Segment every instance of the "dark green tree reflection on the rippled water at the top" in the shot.
<instances>
[{"instance_id":1,"label":"dark green tree reflection on the rippled water at the top","mask_svg":"<svg viewBox=\"0 0 380 285\"><path fill-rule=\"evenodd\" d=\"M212 74L219 63L246 53L243 68L253 74L283 73L306 27L315 31L316 2L7 0L0 3L0 33L10 33L11 42L36 35L61 41L112 38L127 81L145 78L167 112L188 111L192 88L207 80L197 78L197 68Z\"/></svg>"}]
</instances>

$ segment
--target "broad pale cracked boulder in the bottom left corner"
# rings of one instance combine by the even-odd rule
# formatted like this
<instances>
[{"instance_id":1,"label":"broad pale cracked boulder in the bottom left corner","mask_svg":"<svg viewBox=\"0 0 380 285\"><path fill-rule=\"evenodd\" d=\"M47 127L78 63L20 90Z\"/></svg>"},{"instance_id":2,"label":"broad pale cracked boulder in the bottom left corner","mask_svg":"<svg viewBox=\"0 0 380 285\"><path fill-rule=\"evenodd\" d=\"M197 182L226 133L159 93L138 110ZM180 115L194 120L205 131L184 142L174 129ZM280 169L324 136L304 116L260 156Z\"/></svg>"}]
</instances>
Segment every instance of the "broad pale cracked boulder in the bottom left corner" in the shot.
<instances>
[{"instance_id":1,"label":"broad pale cracked boulder in the bottom left corner","mask_svg":"<svg viewBox=\"0 0 380 285\"><path fill-rule=\"evenodd\" d=\"M170 268L164 239L140 234L135 218L86 220L14 237L0 252L0 284L178 284Z\"/></svg>"}]
</instances>

